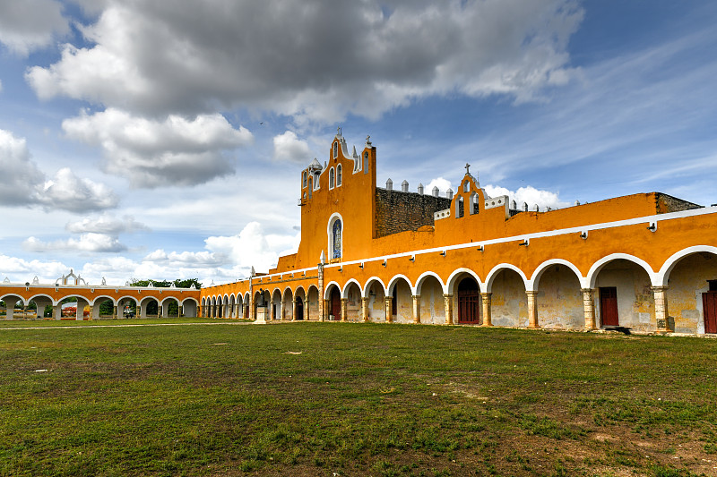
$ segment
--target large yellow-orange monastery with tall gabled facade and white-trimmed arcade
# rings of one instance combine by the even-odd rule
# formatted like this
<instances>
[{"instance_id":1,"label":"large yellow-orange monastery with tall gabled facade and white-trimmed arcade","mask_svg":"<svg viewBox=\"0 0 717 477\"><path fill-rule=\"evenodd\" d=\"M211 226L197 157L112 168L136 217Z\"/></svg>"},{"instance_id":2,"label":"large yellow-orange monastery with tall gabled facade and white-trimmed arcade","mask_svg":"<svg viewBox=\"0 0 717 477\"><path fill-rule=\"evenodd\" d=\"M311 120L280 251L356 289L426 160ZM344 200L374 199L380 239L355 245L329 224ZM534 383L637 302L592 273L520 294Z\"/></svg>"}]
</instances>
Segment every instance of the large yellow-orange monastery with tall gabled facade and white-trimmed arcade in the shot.
<instances>
[{"instance_id":1,"label":"large yellow-orange monastery with tall gabled facade and white-trimmed arcade","mask_svg":"<svg viewBox=\"0 0 717 477\"><path fill-rule=\"evenodd\" d=\"M660 192L537 210L376 186L339 132L299 175L301 243L266 274L201 290L205 317L717 333L717 207Z\"/></svg>"}]
</instances>

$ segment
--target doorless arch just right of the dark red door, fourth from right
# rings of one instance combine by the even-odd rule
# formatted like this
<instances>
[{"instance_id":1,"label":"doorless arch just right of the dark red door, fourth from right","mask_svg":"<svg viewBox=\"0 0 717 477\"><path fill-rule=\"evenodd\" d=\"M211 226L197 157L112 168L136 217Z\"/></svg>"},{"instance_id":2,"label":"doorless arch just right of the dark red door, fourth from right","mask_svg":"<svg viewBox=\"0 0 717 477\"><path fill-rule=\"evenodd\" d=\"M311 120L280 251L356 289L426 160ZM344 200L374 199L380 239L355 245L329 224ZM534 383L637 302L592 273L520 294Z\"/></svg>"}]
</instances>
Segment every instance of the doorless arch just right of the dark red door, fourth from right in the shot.
<instances>
[{"instance_id":1,"label":"doorless arch just right of the dark red door, fourth from right","mask_svg":"<svg viewBox=\"0 0 717 477\"><path fill-rule=\"evenodd\" d=\"M486 277L486 293L491 294L491 322L500 327L527 327L528 280L523 270L509 263L492 268Z\"/></svg>"}]
</instances>

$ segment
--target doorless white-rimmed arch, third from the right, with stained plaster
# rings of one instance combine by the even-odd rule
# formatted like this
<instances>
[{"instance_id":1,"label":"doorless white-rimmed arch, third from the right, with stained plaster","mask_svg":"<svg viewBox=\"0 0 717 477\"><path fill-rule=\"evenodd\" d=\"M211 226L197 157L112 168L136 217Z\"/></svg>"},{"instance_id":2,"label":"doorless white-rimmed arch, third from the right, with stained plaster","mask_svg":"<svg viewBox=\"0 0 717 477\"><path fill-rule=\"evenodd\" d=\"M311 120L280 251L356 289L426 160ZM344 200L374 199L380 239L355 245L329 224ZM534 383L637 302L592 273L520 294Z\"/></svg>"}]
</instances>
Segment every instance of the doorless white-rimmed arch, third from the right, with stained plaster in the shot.
<instances>
[{"instance_id":1,"label":"doorless white-rimmed arch, third from the right, with stained plaster","mask_svg":"<svg viewBox=\"0 0 717 477\"><path fill-rule=\"evenodd\" d=\"M536 312L541 328L583 329L585 278L573 263L546 260L533 272L530 289L536 294Z\"/></svg>"}]
</instances>

